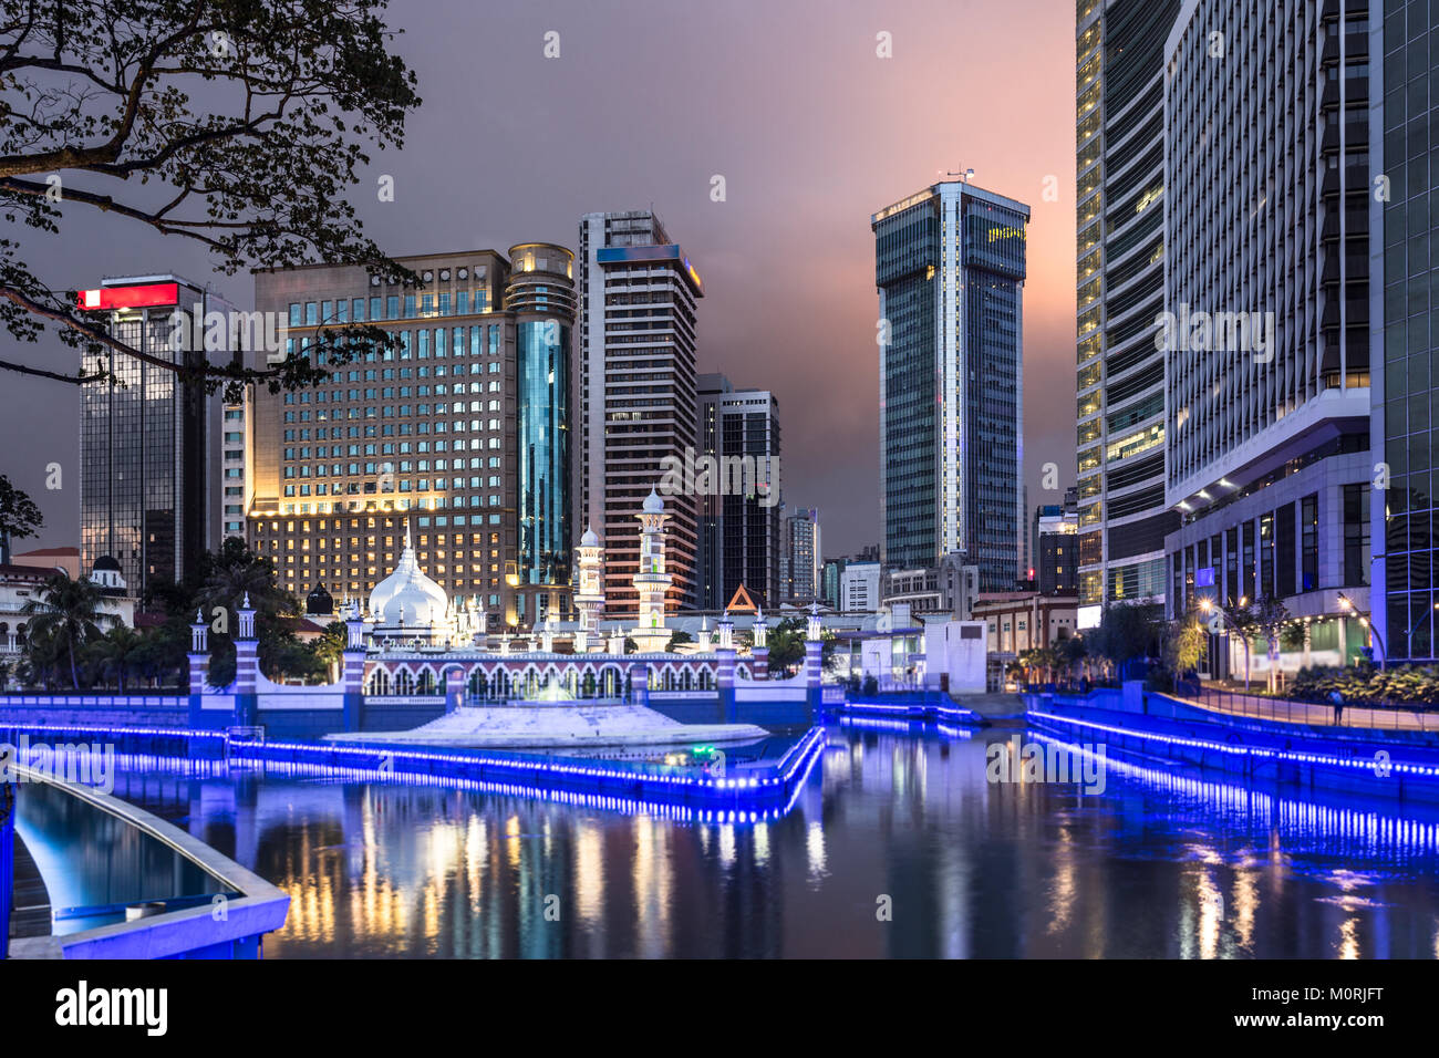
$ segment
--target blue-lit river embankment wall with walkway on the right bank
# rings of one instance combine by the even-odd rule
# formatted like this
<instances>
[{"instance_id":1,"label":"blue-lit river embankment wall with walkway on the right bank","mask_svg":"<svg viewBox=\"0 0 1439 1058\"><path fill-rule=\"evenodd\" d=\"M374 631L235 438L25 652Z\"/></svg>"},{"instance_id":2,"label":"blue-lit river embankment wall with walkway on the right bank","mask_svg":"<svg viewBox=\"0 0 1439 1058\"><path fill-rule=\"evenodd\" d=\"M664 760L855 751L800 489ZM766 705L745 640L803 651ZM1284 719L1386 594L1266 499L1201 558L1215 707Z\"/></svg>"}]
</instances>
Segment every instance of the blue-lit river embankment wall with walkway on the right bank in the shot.
<instances>
[{"instance_id":1,"label":"blue-lit river embankment wall with walkway on the right bank","mask_svg":"<svg viewBox=\"0 0 1439 1058\"><path fill-rule=\"evenodd\" d=\"M1111 751L1150 761L1220 770L1255 783L1439 803L1439 731L1430 715L1410 724L1379 715L1373 720L1392 725L1366 727L1356 720L1389 711L1344 717L1345 707L1341 723L1333 723L1333 707L1298 711L1281 701L1266 701L1261 715L1256 702L1210 708L1204 698L1145 691L1138 681L1088 695L1026 694L1025 704L1030 727L1052 737L1102 741Z\"/></svg>"}]
</instances>

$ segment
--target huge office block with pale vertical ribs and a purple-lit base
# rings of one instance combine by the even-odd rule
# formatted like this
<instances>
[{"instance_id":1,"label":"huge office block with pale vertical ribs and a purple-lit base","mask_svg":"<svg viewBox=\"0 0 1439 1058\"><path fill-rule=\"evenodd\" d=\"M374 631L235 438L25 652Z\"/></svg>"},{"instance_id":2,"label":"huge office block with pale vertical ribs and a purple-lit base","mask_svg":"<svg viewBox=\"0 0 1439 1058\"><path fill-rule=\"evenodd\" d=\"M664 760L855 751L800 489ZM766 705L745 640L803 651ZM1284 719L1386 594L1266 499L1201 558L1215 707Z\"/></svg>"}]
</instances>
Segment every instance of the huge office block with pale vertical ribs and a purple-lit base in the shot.
<instances>
[{"instance_id":1,"label":"huge office block with pale vertical ribs and a purple-lit base","mask_svg":"<svg viewBox=\"0 0 1439 1058\"><path fill-rule=\"evenodd\" d=\"M1282 9L1187 3L1166 43L1170 610L1276 597L1348 654L1325 618L1368 609L1367 13Z\"/></svg>"}]
</instances>

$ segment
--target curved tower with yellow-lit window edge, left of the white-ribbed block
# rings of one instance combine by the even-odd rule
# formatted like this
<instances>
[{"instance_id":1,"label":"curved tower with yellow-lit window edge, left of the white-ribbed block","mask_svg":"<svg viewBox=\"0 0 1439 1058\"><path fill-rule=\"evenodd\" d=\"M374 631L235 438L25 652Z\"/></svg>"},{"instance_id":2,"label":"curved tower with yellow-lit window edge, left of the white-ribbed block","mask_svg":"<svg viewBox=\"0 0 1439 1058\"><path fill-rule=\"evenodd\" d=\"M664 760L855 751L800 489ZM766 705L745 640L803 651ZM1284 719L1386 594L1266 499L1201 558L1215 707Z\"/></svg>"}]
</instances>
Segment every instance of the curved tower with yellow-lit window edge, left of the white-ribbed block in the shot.
<instances>
[{"instance_id":1,"label":"curved tower with yellow-lit window edge, left of the white-ribbed block","mask_svg":"<svg viewBox=\"0 0 1439 1058\"><path fill-rule=\"evenodd\" d=\"M1164 37L1179 0L1078 9L1079 623L1164 602Z\"/></svg>"}]
</instances>

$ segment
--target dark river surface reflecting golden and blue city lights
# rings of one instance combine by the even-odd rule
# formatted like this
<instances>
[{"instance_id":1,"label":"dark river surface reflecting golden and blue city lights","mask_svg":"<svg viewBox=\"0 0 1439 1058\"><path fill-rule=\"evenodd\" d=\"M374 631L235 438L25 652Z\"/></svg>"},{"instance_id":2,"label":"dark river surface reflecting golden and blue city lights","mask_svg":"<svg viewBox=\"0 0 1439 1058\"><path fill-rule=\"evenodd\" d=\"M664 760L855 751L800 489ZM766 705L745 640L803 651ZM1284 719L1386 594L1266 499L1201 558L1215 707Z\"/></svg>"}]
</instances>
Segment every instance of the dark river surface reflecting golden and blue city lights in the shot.
<instances>
[{"instance_id":1,"label":"dark river surface reflecting golden and blue city lights","mask_svg":"<svg viewBox=\"0 0 1439 1058\"><path fill-rule=\"evenodd\" d=\"M117 795L294 897L268 957L1439 954L1433 812L1114 757L1102 795L991 785L1000 737L835 727L757 825L255 773Z\"/></svg>"}]
</instances>

